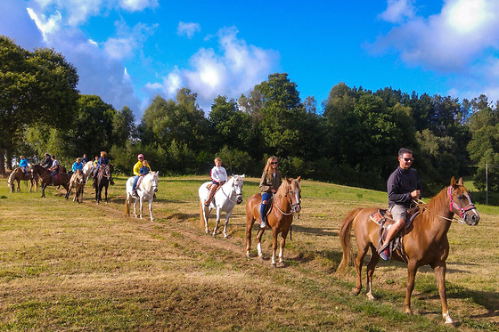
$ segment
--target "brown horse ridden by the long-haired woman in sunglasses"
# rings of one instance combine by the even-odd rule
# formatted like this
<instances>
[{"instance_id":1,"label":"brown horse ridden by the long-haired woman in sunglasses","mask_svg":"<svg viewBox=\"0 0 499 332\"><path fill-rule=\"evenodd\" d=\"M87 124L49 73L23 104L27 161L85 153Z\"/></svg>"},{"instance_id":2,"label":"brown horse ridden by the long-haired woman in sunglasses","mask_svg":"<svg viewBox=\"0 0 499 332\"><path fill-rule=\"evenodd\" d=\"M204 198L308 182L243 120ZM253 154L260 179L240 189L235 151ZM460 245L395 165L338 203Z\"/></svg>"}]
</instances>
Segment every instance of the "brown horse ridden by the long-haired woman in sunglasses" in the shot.
<instances>
[{"instance_id":1,"label":"brown horse ridden by the long-haired woman in sunglasses","mask_svg":"<svg viewBox=\"0 0 499 332\"><path fill-rule=\"evenodd\" d=\"M279 248L279 266L284 266L283 253L286 244L286 236L290 231L293 222L293 214L298 214L301 210L301 185L298 179L288 179L283 181L274 195L273 204L267 215L267 222L272 228L272 265L275 266L275 251L277 250L277 235L281 233L281 246ZM258 220L261 222L260 204L262 195L260 193L251 196L246 203L246 256L249 257L249 248L251 247L251 229L253 223ZM265 228L259 228L257 234L258 257L262 258L261 239Z\"/></svg>"}]
</instances>

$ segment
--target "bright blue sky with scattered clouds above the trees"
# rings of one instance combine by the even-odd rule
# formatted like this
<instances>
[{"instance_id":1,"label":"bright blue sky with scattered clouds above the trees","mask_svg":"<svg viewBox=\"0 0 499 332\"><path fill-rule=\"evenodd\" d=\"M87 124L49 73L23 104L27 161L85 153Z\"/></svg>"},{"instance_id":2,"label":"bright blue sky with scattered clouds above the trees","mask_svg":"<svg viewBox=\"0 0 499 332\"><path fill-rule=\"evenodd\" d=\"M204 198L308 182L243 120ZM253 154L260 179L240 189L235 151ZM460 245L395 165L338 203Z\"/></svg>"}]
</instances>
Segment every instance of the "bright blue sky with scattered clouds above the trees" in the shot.
<instances>
[{"instance_id":1,"label":"bright blue sky with scattered clouds above the trees","mask_svg":"<svg viewBox=\"0 0 499 332\"><path fill-rule=\"evenodd\" d=\"M274 72L319 110L339 82L499 100L495 0L2 0L0 35L53 47L81 93L137 120L158 94L187 86L209 112Z\"/></svg>"}]
</instances>

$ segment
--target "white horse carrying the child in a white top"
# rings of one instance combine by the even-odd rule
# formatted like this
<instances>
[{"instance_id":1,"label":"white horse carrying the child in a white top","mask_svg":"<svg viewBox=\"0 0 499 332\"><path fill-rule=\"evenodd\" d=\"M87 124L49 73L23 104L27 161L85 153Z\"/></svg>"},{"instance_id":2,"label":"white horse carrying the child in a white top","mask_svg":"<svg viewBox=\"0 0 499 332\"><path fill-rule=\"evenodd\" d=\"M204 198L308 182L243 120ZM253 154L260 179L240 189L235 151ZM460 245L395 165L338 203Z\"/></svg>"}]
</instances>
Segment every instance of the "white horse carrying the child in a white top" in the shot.
<instances>
[{"instance_id":1,"label":"white horse carrying the child in a white top","mask_svg":"<svg viewBox=\"0 0 499 332\"><path fill-rule=\"evenodd\" d=\"M212 182L204 182L201 184L198 193L200 195L200 219L204 221L205 231L208 234L208 218L209 212L213 209L217 209L217 223L213 229L213 236L217 234L218 223L220 223L220 212L225 211L225 226L224 226L224 237L227 236L227 223L229 223L229 217L233 213L233 206L236 204L241 204L242 202L242 175L233 175L231 179L222 185L215 193L213 199L209 206L205 206L204 202L208 198L209 190L207 186Z\"/></svg>"}]
</instances>

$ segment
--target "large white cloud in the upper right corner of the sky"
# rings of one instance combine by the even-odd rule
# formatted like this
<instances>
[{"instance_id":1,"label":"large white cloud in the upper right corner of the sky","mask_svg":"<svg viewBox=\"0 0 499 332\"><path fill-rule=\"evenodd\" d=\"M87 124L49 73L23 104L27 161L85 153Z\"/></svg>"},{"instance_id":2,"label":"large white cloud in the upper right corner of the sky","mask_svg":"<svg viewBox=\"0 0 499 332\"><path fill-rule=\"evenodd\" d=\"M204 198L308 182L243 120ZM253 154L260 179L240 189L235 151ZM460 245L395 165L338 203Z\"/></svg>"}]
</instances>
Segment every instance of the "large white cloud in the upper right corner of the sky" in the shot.
<instances>
[{"instance_id":1,"label":"large white cloud in the upper right corner of the sky","mask_svg":"<svg viewBox=\"0 0 499 332\"><path fill-rule=\"evenodd\" d=\"M410 66L450 74L449 91L461 98L484 92L499 98L499 80L491 75L497 70L499 54L499 2L446 0L441 12L429 17L405 15L400 22L397 5L405 6L401 3L389 0L387 12L380 15L398 25L380 36L373 52L392 49Z\"/></svg>"}]
</instances>

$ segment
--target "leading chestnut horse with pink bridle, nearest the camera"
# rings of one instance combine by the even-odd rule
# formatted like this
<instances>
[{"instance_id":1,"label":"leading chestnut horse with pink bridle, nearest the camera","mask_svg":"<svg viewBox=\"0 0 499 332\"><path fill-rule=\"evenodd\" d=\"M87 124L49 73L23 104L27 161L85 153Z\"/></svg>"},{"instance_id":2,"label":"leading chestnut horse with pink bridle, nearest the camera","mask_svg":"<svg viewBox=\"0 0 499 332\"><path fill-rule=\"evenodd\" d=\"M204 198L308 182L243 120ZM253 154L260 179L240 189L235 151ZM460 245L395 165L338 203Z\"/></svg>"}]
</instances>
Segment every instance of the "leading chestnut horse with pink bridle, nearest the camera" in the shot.
<instances>
[{"instance_id":1,"label":"leading chestnut horse with pink bridle, nearest the camera","mask_svg":"<svg viewBox=\"0 0 499 332\"><path fill-rule=\"evenodd\" d=\"M356 235L357 255L356 287L352 289L358 295L362 289L361 270L364 256L371 248L371 260L367 264L366 294L373 300L372 275L374 268L380 260L376 251L379 242L380 226L370 219L370 215L377 212L376 207L358 207L352 210L343 220L339 233L343 258L339 263L338 271L345 271L352 258L350 243L351 229L354 227ZM427 205L421 206L421 214L416 216L409 228L403 231L403 243L407 260L407 290L405 294L405 312L412 314L411 295L414 289L414 278L420 266L429 265L435 271L438 284L438 294L442 303L442 316L446 323L454 323L449 315L446 297L446 259L449 255L449 241L447 231L453 221L454 214L459 215L461 222L468 225L479 223L480 216L476 207L471 202L468 190L462 185L462 179L455 182L451 179L449 187L441 190L437 196L431 198ZM394 251L392 258L403 261Z\"/></svg>"}]
</instances>

